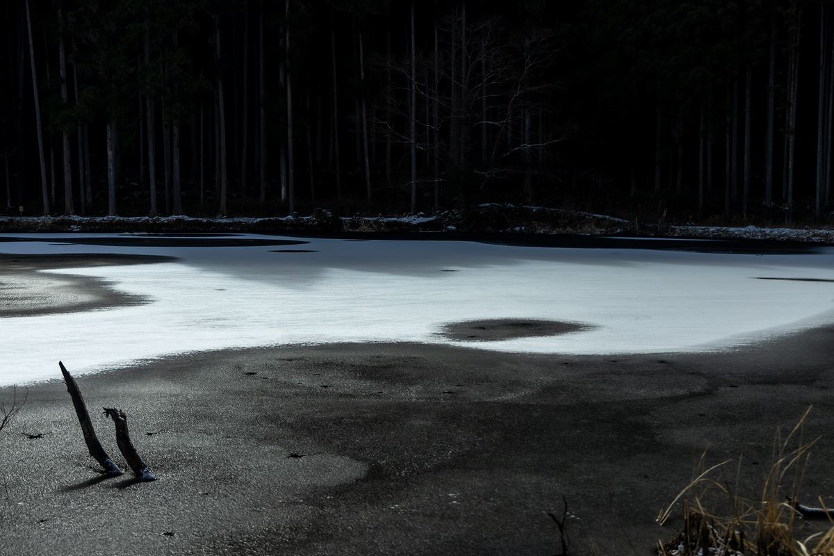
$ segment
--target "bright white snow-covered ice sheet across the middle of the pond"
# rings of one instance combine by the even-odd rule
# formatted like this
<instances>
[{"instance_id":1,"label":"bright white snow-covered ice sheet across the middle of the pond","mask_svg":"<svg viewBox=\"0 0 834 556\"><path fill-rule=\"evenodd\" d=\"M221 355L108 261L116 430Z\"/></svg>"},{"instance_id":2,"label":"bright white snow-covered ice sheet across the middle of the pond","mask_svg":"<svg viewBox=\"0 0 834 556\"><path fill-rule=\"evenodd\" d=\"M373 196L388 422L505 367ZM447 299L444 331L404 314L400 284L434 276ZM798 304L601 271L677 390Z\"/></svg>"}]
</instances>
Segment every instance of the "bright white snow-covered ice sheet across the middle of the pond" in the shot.
<instances>
[{"instance_id":1,"label":"bright white snow-covered ice sheet across the middle of the pond","mask_svg":"<svg viewBox=\"0 0 834 556\"><path fill-rule=\"evenodd\" d=\"M445 343L570 354L697 351L834 322L834 248L827 247L754 255L655 251L651 240L646 249L616 243L590 249L254 234L239 238L306 243L73 243L127 237L135 236L15 234L0 241L0 253L178 258L48 271L101 278L148 303L0 318L0 385L55 378L59 359L83 374L169 354L296 343ZM590 328L489 342L440 335L447 323L499 318Z\"/></svg>"}]
</instances>

